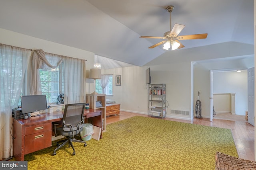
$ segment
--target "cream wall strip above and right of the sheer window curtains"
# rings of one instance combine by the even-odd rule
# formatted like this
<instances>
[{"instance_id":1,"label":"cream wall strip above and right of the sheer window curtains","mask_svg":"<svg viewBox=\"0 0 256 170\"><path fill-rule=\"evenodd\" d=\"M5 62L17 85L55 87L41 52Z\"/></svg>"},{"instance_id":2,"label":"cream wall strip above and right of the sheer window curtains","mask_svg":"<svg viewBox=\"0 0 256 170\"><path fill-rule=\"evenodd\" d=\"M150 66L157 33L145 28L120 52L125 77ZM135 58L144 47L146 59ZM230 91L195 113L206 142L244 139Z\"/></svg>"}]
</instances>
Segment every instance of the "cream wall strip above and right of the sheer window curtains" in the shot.
<instances>
[{"instance_id":1,"label":"cream wall strip above and right of the sheer window curtains","mask_svg":"<svg viewBox=\"0 0 256 170\"><path fill-rule=\"evenodd\" d=\"M31 37L21 33L16 33L13 31L8 31L6 29L0 28L0 43L6 45L12 45L16 47L26 48L26 49L43 49L44 52L53 53L58 55L64 55L68 57L73 57L77 59L84 59L86 61L86 70L94 67L94 53L77 49L74 47L69 47L66 45L54 43L51 41L46 41L36 37ZM94 91L94 84L92 80L86 81L86 92L90 93ZM89 82L89 83L88 83Z\"/></svg>"}]
</instances>

